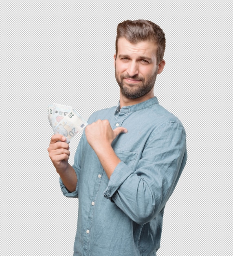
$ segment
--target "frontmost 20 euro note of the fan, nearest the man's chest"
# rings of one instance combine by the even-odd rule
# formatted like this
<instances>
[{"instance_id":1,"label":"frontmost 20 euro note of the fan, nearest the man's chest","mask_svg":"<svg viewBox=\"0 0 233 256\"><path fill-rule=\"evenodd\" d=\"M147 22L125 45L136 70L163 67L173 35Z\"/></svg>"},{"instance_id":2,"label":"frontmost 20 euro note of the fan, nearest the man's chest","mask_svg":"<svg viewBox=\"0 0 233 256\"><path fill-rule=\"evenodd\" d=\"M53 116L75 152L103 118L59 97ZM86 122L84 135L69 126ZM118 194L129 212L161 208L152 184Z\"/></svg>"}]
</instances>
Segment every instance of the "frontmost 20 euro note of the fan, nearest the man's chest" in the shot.
<instances>
[{"instance_id":1,"label":"frontmost 20 euro note of the fan, nearest the man's chest","mask_svg":"<svg viewBox=\"0 0 233 256\"><path fill-rule=\"evenodd\" d=\"M88 123L73 109L55 126L54 133L63 135L69 143L87 125Z\"/></svg>"}]
</instances>

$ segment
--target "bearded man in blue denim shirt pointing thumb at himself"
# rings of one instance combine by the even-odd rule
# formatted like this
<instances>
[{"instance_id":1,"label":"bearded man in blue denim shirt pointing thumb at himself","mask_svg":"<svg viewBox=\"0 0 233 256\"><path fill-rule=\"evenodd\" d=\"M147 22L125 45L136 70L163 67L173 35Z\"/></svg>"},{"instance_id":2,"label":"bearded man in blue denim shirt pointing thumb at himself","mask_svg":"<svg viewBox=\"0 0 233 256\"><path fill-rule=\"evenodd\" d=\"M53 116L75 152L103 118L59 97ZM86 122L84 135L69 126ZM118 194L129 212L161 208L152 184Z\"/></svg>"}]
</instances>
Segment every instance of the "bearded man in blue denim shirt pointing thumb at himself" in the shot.
<instances>
[{"instance_id":1,"label":"bearded man in blue denim shirt pointing thumb at himself","mask_svg":"<svg viewBox=\"0 0 233 256\"><path fill-rule=\"evenodd\" d=\"M156 24L121 22L114 55L119 106L91 115L73 167L66 138L51 138L62 192L79 198L75 256L152 256L160 247L165 204L187 159L182 124L154 97L164 50Z\"/></svg>"}]
</instances>

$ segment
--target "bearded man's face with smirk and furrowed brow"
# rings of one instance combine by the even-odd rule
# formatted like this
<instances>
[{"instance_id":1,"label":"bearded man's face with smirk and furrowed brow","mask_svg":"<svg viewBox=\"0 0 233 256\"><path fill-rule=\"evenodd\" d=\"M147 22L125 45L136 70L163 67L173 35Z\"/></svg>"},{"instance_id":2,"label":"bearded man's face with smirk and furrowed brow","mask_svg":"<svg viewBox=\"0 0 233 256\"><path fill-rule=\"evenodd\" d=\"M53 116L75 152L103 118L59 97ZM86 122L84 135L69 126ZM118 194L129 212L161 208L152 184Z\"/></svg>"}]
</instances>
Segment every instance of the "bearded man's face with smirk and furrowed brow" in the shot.
<instances>
[{"instance_id":1,"label":"bearded man's face with smirk and furrowed brow","mask_svg":"<svg viewBox=\"0 0 233 256\"><path fill-rule=\"evenodd\" d=\"M115 76L125 98L136 99L154 90L158 72L156 52L157 46L151 41L132 44L123 37L118 39Z\"/></svg>"}]
</instances>

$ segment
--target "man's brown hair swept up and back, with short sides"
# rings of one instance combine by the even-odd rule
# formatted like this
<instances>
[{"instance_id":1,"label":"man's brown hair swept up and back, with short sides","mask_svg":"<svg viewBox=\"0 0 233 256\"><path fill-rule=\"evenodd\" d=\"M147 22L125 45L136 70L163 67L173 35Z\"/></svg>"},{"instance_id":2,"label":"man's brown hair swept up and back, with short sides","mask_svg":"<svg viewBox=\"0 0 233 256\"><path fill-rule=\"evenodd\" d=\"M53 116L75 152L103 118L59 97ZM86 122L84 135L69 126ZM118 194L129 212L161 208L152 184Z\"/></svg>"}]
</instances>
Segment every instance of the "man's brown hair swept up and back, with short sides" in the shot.
<instances>
[{"instance_id":1,"label":"man's brown hair swept up and back, with short sides","mask_svg":"<svg viewBox=\"0 0 233 256\"><path fill-rule=\"evenodd\" d=\"M116 56L118 39L124 37L132 44L147 40L156 43L158 47L156 54L157 64L163 60L165 34L155 23L149 20L125 20L118 24L116 33Z\"/></svg>"}]
</instances>

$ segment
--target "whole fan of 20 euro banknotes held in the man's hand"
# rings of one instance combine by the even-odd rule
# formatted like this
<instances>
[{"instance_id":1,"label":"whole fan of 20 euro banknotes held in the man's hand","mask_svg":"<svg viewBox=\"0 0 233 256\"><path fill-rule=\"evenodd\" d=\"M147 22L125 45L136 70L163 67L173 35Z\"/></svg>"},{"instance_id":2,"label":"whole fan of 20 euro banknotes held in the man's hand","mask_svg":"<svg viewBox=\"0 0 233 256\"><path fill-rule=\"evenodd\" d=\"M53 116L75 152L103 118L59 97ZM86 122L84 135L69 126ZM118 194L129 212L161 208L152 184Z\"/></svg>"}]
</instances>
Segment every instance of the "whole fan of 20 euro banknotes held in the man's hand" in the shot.
<instances>
[{"instance_id":1,"label":"whole fan of 20 euro banknotes held in the man's hand","mask_svg":"<svg viewBox=\"0 0 233 256\"><path fill-rule=\"evenodd\" d=\"M88 123L71 106L51 104L48 106L48 121L55 134L62 134L66 142L81 132Z\"/></svg>"}]
</instances>

